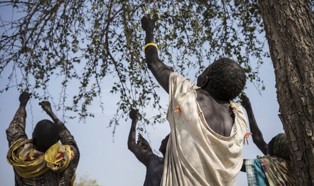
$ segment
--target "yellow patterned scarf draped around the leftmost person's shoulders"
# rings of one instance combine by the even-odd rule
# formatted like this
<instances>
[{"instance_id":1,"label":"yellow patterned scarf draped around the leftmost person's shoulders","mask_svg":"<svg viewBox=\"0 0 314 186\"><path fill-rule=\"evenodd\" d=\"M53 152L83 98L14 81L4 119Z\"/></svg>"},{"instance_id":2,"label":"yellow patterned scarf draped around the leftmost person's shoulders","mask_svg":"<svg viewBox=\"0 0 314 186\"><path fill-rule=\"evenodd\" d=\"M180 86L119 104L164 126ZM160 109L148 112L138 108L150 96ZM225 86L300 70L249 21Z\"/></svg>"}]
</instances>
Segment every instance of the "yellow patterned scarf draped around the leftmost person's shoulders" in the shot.
<instances>
[{"instance_id":1,"label":"yellow patterned scarf draped around the leftmost person's shoulders","mask_svg":"<svg viewBox=\"0 0 314 186\"><path fill-rule=\"evenodd\" d=\"M9 148L7 161L22 178L34 178L51 169L54 172L64 171L74 153L70 145L59 142L53 144L45 153L35 149L32 140L16 140Z\"/></svg>"}]
</instances>

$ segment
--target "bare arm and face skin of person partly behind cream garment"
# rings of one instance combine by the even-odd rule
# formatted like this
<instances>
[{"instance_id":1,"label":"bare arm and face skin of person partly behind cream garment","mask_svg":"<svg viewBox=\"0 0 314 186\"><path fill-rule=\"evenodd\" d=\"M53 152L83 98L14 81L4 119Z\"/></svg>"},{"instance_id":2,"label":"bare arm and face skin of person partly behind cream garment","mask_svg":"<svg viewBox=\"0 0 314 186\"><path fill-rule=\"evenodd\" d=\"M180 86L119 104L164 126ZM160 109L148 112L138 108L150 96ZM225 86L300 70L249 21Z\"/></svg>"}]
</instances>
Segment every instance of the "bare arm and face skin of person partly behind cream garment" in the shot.
<instances>
[{"instance_id":1,"label":"bare arm and face skin of person partly behind cream garment","mask_svg":"<svg viewBox=\"0 0 314 186\"><path fill-rule=\"evenodd\" d=\"M138 112L136 110L131 110L130 118L132 119L129 139L128 139L128 148L135 155L137 160L143 163L145 166L148 165L150 157L154 155L149 143L141 135L138 135L137 143L136 140L136 124L138 121ZM163 157L165 156L165 146L167 143L164 140L161 142L159 151L162 153Z\"/></svg>"}]
</instances>

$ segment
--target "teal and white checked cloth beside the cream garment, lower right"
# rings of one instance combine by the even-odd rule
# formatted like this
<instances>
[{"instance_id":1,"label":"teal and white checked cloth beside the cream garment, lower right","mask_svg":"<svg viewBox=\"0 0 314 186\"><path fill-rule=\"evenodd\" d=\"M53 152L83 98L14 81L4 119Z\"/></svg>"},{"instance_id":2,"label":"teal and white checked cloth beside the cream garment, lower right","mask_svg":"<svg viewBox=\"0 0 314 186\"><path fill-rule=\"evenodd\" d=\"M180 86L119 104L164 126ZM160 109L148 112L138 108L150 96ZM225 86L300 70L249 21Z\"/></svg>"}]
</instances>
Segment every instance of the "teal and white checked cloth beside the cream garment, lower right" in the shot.
<instances>
[{"instance_id":1,"label":"teal and white checked cloth beside the cream garment, lower right","mask_svg":"<svg viewBox=\"0 0 314 186\"><path fill-rule=\"evenodd\" d=\"M248 186L269 186L263 171L261 160L245 160Z\"/></svg>"}]
</instances>

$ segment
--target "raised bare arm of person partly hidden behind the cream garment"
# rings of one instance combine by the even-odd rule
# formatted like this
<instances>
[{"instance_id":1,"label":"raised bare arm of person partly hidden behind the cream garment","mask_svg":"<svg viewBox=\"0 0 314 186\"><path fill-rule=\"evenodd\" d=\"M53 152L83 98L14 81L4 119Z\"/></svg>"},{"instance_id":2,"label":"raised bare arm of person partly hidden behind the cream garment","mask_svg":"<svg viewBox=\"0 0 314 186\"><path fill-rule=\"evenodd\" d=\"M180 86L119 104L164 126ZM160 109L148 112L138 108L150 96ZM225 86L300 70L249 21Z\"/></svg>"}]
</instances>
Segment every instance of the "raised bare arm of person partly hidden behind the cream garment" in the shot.
<instances>
[{"instance_id":1,"label":"raised bare arm of person partly hidden behind the cream garment","mask_svg":"<svg viewBox=\"0 0 314 186\"><path fill-rule=\"evenodd\" d=\"M147 144L144 145L143 147L141 146L141 143L142 143L141 138L139 138L138 143L135 142L136 140L135 129L136 129L136 123L138 120L138 114L136 110L131 110L130 118L132 119L132 124L131 124L131 129L130 129L130 134L129 134L128 148L135 155L137 160L139 160L141 163L147 166L149 162L149 158L152 155L154 155L154 153L152 152L149 146L148 146L149 148L148 147L144 148L145 146L147 146Z\"/></svg>"}]
</instances>

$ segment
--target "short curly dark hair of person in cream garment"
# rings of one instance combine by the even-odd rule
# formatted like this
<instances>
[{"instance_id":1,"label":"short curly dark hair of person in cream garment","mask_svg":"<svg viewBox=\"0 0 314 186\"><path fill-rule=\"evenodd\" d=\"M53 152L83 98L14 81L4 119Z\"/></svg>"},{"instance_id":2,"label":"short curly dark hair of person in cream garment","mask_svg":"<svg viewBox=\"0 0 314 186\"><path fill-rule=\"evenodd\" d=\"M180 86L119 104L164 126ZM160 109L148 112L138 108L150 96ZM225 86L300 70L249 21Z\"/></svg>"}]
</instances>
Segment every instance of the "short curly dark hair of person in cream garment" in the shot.
<instances>
[{"instance_id":1,"label":"short curly dark hair of person in cream garment","mask_svg":"<svg viewBox=\"0 0 314 186\"><path fill-rule=\"evenodd\" d=\"M240 65L229 58L220 58L205 70L209 93L222 100L232 100L244 89L246 75Z\"/></svg>"}]
</instances>

